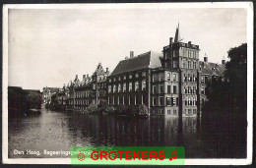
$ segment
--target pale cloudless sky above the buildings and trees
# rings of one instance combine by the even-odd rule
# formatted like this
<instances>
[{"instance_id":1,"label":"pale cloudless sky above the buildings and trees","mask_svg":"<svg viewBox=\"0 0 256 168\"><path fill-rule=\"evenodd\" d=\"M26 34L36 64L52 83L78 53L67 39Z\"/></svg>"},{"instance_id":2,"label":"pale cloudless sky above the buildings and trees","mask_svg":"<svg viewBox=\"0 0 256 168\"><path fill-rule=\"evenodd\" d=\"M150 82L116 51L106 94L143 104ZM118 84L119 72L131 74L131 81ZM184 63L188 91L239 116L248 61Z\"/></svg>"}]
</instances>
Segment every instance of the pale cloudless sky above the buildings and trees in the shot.
<instances>
[{"instance_id":1,"label":"pale cloudless sky above the buildings and trees","mask_svg":"<svg viewBox=\"0 0 256 168\"><path fill-rule=\"evenodd\" d=\"M246 42L246 10L11 9L8 84L27 89L68 84L90 76L101 63L110 72L130 51L162 51L179 23L183 42L200 47L209 62L222 63L229 48Z\"/></svg>"}]
</instances>

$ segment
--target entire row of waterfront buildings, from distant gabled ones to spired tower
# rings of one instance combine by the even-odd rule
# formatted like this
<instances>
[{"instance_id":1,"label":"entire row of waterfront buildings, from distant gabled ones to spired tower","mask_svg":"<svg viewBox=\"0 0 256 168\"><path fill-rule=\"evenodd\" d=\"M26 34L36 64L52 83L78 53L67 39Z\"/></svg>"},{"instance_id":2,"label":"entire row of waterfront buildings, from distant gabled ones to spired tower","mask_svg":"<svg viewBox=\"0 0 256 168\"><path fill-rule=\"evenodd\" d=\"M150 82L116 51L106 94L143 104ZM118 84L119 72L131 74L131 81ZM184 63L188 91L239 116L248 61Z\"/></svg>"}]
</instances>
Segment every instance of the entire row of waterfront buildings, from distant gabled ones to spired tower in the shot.
<instances>
[{"instance_id":1,"label":"entire row of waterfront buildings, from distant gabled ones to spired tower","mask_svg":"<svg viewBox=\"0 0 256 168\"><path fill-rule=\"evenodd\" d=\"M151 115L201 116L207 99L206 86L224 80L224 64L199 61L199 45L183 42L179 27L162 52L148 51L120 61L110 74L101 63L92 76L84 75L57 93L67 109L86 110L90 104L106 103L116 111L138 111L146 106ZM46 94L47 95L47 94ZM47 100L48 101L48 100Z\"/></svg>"}]
</instances>

